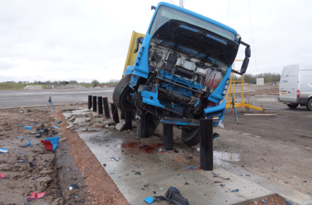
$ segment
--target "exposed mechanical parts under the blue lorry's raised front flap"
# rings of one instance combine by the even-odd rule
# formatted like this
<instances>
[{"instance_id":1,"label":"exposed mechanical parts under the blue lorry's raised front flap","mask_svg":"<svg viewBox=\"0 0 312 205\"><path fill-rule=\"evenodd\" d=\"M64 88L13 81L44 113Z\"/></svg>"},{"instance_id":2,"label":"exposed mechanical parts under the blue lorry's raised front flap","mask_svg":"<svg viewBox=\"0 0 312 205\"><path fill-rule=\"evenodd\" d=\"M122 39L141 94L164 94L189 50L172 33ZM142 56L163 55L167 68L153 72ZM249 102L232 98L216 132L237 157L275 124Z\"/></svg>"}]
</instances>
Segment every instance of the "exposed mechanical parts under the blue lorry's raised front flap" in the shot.
<instances>
[{"instance_id":1,"label":"exposed mechanical parts under the blue lorry's raised front flap","mask_svg":"<svg viewBox=\"0 0 312 205\"><path fill-rule=\"evenodd\" d=\"M207 99L226 71L226 67L204 63L196 55L176 51L157 40L150 42L148 63L150 75L139 91L157 89L164 109L183 117L201 112L202 99Z\"/></svg>"}]
</instances>

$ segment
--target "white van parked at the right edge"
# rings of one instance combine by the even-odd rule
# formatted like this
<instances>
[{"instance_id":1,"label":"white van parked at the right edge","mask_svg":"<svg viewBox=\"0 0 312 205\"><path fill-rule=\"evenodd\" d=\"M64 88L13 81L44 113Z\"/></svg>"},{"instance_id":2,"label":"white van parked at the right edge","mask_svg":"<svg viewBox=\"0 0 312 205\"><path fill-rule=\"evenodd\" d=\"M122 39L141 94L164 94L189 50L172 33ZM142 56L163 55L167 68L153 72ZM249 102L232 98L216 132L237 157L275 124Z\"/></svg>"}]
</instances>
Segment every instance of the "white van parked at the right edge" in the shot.
<instances>
[{"instance_id":1,"label":"white van parked at the right edge","mask_svg":"<svg viewBox=\"0 0 312 205\"><path fill-rule=\"evenodd\" d=\"M312 111L312 65L284 67L279 82L279 101L289 108L300 105Z\"/></svg>"}]
</instances>

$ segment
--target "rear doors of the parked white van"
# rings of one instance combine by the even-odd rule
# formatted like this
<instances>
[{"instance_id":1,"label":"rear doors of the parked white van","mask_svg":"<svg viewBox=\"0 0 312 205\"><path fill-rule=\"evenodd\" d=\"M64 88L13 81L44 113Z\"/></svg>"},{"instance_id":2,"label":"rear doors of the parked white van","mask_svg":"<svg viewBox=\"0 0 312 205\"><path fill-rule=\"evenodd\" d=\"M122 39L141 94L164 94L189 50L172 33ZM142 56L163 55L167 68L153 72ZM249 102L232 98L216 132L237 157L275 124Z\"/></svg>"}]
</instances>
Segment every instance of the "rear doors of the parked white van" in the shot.
<instances>
[{"instance_id":1,"label":"rear doors of the parked white van","mask_svg":"<svg viewBox=\"0 0 312 205\"><path fill-rule=\"evenodd\" d=\"M297 100L298 74L300 65L284 67L279 83L279 101L295 103Z\"/></svg>"}]
</instances>

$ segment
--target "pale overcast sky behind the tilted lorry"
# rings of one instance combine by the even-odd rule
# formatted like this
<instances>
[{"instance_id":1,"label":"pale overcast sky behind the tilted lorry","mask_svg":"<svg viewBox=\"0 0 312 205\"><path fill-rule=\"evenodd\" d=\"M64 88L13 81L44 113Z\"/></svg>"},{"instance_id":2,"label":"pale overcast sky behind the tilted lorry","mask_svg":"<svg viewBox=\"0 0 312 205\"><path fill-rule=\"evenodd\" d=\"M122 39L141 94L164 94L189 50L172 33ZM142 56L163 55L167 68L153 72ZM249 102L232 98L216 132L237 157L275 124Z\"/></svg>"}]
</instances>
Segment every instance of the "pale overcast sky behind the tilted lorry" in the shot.
<instances>
[{"instance_id":1,"label":"pale overcast sky behind the tilted lorry","mask_svg":"<svg viewBox=\"0 0 312 205\"><path fill-rule=\"evenodd\" d=\"M121 79L132 31L146 33L158 2L0 0L0 82ZM184 0L184 8L234 28L251 45L246 73L312 64L312 1Z\"/></svg>"}]
</instances>

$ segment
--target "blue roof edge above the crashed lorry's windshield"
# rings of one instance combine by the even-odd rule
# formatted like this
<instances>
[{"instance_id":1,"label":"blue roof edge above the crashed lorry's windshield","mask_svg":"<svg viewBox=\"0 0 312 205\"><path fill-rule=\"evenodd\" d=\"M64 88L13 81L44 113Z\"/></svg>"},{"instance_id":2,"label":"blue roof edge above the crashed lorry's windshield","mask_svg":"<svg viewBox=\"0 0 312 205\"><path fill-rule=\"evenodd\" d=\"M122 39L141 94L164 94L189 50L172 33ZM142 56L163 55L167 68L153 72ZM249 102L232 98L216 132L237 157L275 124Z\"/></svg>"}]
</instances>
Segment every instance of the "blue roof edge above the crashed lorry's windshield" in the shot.
<instances>
[{"instance_id":1,"label":"blue roof edge above the crashed lorry's windshield","mask_svg":"<svg viewBox=\"0 0 312 205\"><path fill-rule=\"evenodd\" d=\"M210 19L210 18L208 18L208 17L205 17L205 16L203 16L203 15L200 15L200 14L198 14L198 13L195 13L195 12L193 12L193 11L191 11L191 10L187 10L186 8L182 8L182 7L180 7L180 6L175 6L175 5L171 4L171 3L166 3L166 2L159 2L158 5L157 5L157 8L159 8L159 6L167 6L167 7L169 7L169 8L173 8L173 9L175 9L175 10L180 10L180 11L183 12L183 13L186 13L186 14L191 15L191 16L193 16L193 17L196 17L196 18L198 18L198 19L202 19L202 20L205 21L205 22L209 22L209 23L211 23L211 24L214 24L214 25L216 25L216 26L219 26L220 28L223 28L223 29L225 29L225 30L227 30L227 31L230 31L230 32L234 33L235 35L237 35L237 32L236 32L233 28L231 28L231 27L229 27L229 26L226 26L225 24L221 24L220 22L217 22L217 21L215 21L214 19ZM150 28L149 28L149 29L150 29ZM148 29L148 30L149 30L149 29Z\"/></svg>"}]
</instances>

